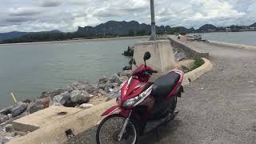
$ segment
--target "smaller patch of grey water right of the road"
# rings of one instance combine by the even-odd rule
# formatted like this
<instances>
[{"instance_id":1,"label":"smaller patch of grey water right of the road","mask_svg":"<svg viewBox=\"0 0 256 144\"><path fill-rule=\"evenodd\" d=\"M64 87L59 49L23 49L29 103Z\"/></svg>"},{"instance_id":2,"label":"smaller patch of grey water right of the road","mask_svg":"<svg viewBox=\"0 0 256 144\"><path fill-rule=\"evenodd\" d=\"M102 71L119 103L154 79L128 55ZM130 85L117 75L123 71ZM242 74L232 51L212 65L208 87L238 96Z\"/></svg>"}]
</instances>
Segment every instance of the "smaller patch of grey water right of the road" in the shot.
<instances>
[{"instance_id":1,"label":"smaller patch of grey water right of the road","mask_svg":"<svg viewBox=\"0 0 256 144\"><path fill-rule=\"evenodd\" d=\"M205 33L201 35L202 38L208 40L256 46L256 31Z\"/></svg>"}]
</instances>

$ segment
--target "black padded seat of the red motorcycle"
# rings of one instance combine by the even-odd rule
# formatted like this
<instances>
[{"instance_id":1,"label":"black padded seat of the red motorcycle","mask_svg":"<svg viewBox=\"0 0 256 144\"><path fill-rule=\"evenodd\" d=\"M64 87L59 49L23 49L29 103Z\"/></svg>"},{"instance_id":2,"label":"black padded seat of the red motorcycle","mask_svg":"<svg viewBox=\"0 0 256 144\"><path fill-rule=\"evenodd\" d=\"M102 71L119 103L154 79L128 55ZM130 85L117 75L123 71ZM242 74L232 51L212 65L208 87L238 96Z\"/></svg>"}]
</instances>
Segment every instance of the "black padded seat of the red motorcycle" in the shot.
<instances>
[{"instance_id":1,"label":"black padded seat of the red motorcycle","mask_svg":"<svg viewBox=\"0 0 256 144\"><path fill-rule=\"evenodd\" d=\"M152 96L156 102L161 102L170 94L174 87L178 84L178 80L181 77L180 74L172 71L163 75L154 82L152 87Z\"/></svg>"}]
</instances>

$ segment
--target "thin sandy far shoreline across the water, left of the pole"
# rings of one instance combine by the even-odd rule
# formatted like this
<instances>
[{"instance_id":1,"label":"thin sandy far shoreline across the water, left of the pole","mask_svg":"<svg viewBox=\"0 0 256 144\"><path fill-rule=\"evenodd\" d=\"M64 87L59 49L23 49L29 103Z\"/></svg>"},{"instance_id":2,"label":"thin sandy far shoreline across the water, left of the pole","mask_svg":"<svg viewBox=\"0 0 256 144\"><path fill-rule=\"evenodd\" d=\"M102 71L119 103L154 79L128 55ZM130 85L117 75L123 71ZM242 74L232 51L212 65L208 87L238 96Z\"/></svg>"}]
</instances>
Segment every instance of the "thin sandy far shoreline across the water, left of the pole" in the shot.
<instances>
[{"instance_id":1,"label":"thin sandy far shoreline across the water, left of the pole","mask_svg":"<svg viewBox=\"0 0 256 144\"><path fill-rule=\"evenodd\" d=\"M119 39L132 39L132 38L150 38L150 36L135 36L135 37L118 37L118 38L94 38L94 39L70 39L63 41L49 41L49 42L20 42L20 43L3 43L0 46L14 46L14 45L30 45L30 44L48 44L48 43L61 43L61 42L97 42L97 41L108 41L108 40L119 40Z\"/></svg>"}]
</instances>

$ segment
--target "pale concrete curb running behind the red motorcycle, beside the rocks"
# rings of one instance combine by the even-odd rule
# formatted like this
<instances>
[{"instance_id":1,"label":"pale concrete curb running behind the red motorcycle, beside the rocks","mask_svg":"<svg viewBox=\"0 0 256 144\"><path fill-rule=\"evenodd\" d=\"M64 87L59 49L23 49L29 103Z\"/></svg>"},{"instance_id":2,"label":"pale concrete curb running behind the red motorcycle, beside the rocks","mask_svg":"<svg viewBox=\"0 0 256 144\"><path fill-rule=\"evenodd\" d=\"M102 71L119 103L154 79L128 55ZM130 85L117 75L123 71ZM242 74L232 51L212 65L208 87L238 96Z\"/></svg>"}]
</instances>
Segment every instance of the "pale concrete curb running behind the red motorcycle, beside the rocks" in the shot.
<instances>
[{"instance_id":1,"label":"pale concrete curb running behind the red motorcycle, beside the rocks","mask_svg":"<svg viewBox=\"0 0 256 144\"><path fill-rule=\"evenodd\" d=\"M182 85L188 85L190 82L193 82L202 76L202 74L212 70L212 63L206 58L202 59L205 61L205 64L198 67L198 69L192 70L185 74ZM67 130L72 130L74 135L81 134L86 130L90 130L90 128L98 125L98 122L102 119L101 114L114 104L115 99L111 100L110 102L99 104L98 106L94 106L87 110L78 111L77 113L70 114L69 116L58 120L57 122L52 122L47 126L42 126L38 130L34 130L30 134L26 134L21 138L16 138L10 142L7 142L7 144L58 144L66 142L68 139L66 136ZM59 107L61 108L62 106ZM51 107L47 109L49 110Z\"/></svg>"}]
</instances>

